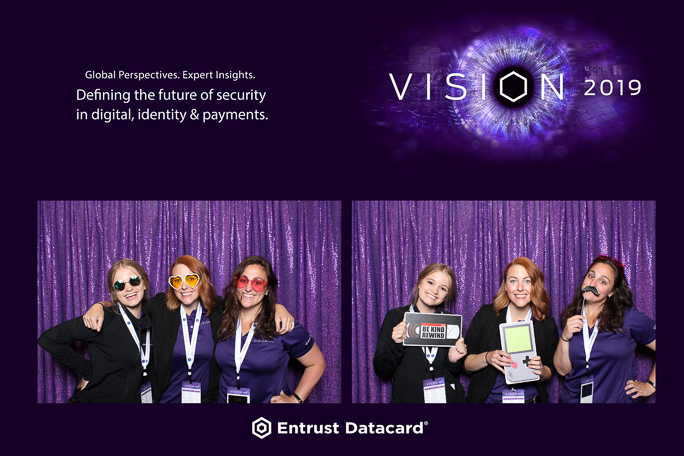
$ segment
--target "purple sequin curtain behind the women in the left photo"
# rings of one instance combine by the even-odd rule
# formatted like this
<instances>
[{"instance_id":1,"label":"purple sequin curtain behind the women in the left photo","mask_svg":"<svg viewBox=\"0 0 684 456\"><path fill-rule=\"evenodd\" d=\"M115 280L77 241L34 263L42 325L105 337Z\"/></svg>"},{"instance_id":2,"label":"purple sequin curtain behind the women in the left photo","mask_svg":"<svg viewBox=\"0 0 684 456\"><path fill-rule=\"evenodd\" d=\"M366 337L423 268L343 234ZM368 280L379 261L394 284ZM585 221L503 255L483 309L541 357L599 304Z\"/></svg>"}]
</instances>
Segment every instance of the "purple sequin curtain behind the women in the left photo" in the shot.
<instances>
[{"instance_id":1,"label":"purple sequin curtain behind the women in the left photo","mask_svg":"<svg viewBox=\"0 0 684 456\"><path fill-rule=\"evenodd\" d=\"M262 255L278 277L278 302L309 330L327 363L309 401L340 402L340 216L339 201L39 202L36 338L107 299L107 271L121 258L146 268L154 294L166 291L173 261L193 255L222 295L233 268ZM38 402L66 402L76 375L36 347ZM291 385L299 375L291 365Z\"/></svg>"}]
</instances>

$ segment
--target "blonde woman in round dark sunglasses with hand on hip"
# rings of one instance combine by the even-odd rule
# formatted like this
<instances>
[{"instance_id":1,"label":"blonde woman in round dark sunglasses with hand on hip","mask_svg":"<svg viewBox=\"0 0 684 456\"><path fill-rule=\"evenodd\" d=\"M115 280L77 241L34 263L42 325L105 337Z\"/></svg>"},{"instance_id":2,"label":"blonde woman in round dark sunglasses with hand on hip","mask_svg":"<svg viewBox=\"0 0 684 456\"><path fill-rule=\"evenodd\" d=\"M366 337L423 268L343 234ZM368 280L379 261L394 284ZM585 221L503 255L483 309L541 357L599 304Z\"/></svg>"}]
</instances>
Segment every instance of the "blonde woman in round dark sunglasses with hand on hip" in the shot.
<instances>
[{"instance_id":1,"label":"blonde woman in round dark sunglasses with hand on hip","mask_svg":"<svg viewBox=\"0 0 684 456\"><path fill-rule=\"evenodd\" d=\"M114 305L104 312L100 332L79 317L48 329L38 344L82 377L69 402L151 402L152 323L142 311L147 274L137 262L119 260L109 269L107 287ZM79 340L88 342L89 360L67 345Z\"/></svg>"}]
</instances>

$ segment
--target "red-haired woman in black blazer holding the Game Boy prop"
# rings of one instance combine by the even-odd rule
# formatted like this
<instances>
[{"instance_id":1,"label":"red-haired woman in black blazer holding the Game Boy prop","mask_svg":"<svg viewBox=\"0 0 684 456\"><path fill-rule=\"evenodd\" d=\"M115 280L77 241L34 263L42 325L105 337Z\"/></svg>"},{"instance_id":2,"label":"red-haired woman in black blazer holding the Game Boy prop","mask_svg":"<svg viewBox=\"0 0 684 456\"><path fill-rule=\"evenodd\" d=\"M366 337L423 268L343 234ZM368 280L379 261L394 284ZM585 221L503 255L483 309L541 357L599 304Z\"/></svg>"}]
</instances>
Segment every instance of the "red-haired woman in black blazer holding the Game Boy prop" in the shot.
<instances>
[{"instance_id":1,"label":"red-haired woman in black blazer holding the Game Boy prop","mask_svg":"<svg viewBox=\"0 0 684 456\"><path fill-rule=\"evenodd\" d=\"M548 314L549 308L544 274L539 267L525 257L508 263L492 304L478 310L466 333L471 354L464 364L472 374L467 402L549 401L549 393L542 383L554 373L553 355L558 344L558 328ZM511 356L502 350L499 325L517 321L532 321L537 356L527 367L539 375L539 380L507 385L505 368L513 363Z\"/></svg>"}]
</instances>

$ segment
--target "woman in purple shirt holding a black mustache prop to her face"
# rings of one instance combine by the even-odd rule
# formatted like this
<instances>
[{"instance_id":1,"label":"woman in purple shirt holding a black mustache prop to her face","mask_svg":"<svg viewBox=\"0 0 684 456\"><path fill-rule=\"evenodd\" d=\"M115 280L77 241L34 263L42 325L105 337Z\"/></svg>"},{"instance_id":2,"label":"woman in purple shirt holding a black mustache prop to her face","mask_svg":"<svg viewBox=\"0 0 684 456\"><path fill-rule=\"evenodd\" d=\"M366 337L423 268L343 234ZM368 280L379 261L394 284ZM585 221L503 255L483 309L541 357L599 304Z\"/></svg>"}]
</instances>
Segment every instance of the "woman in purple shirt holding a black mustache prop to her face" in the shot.
<instances>
[{"instance_id":1,"label":"woman in purple shirt holding a black mustache prop to her face","mask_svg":"<svg viewBox=\"0 0 684 456\"><path fill-rule=\"evenodd\" d=\"M561 402L639 402L655 393L655 363L646 382L636 380L637 344L655 351L655 323L635 309L624 265L599 255L563 311L554 356L565 376Z\"/></svg>"}]
</instances>

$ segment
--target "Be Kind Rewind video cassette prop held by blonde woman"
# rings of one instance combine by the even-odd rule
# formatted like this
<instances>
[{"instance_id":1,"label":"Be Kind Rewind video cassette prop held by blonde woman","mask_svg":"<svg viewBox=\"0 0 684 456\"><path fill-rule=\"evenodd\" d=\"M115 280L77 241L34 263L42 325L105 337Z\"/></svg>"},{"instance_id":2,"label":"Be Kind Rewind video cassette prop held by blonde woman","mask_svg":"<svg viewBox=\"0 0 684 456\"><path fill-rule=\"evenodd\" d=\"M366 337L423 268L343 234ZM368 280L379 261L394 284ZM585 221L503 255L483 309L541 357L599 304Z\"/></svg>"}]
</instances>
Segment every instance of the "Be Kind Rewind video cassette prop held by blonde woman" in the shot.
<instances>
[{"instance_id":1,"label":"Be Kind Rewind video cassette prop held by blonde woman","mask_svg":"<svg viewBox=\"0 0 684 456\"><path fill-rule=\"evenodd\" d=\"M406 312L404 345L453 347L461 337L461 316Z\"/></svg>"}]
</instances>

